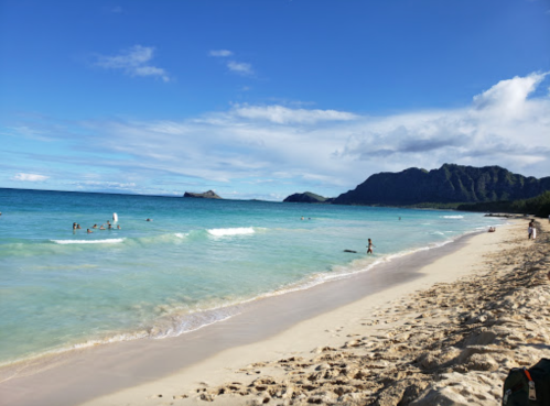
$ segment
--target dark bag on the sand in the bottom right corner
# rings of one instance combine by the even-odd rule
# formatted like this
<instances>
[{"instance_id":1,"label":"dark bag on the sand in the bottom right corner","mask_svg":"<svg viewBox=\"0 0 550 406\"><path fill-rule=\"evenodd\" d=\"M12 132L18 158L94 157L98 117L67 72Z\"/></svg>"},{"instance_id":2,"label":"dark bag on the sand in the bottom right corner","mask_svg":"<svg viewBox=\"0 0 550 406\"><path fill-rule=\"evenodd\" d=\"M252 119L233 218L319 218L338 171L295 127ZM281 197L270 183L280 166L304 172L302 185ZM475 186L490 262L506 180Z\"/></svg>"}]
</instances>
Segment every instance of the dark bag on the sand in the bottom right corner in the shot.
<instances>
[{"instance_id":1,"label":"dark bag on the sand in the bottom right corner","mask_svg":"<svg viewBox=\"0 0 550 406\"><path fill-rule=\"evenodd\" d=\"M513 367L504 381L503 406L550 406L550 360Z\"/></svg>"}]
</instances>

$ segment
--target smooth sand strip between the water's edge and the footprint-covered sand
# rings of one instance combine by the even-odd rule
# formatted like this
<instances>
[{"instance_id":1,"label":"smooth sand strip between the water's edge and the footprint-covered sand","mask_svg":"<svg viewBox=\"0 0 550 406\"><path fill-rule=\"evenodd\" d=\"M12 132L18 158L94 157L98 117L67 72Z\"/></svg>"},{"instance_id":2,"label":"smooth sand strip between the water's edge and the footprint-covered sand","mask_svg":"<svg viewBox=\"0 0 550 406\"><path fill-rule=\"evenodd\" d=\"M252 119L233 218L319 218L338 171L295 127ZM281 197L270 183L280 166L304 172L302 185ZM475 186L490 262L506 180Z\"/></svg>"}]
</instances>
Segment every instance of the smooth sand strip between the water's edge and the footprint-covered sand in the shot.
<instances>
[{"instance_id":1,"label":"smooth sand strip between the water's edge and the footprint-covered sand","mask_svg":"<svg viewBox=\"0 0 550 406\"><path fill-rule=\"evenodd\" d=\"M311 360L295 360L326 351L332 354L332 350L313 350L320 352L312 355L315 348L334 348L337 353L344 351L338 350L342 347L364 347L363 341L346 344L351 337L370 334L365 342L378 341L380 326L390 328L410 321L410 315L393 320L392 312L403 306L403 300L410 300L413 292L488 272L484 257L503 256L511 235L518 235L514 243L525 240L519 240L524 228L522 221L517 222L496 233L463 238L436 250L396 259L362 275L241 306L238 316L177 338L101 345L52 358L40 365L2 371L2 404L169 405L206 399L237 405L265 402L266 391L255 389L260 384L249 385L267 375L272 376L269 380L274 392L269 399L273 404L308 402L311 394L302 384L294 384L295 388L301 385L299 391L293 389L298 394L294 397L276 396L285 391L283 382L290 380L290 372L300 376L314 365ZM292 358L294 361L281 363ZM227 382L239 384L233 384L231 389ZM337 391L331 394L337 395ZM333 402L334 396L325 397L322 402Z\"/></svg>"}]
</instances>

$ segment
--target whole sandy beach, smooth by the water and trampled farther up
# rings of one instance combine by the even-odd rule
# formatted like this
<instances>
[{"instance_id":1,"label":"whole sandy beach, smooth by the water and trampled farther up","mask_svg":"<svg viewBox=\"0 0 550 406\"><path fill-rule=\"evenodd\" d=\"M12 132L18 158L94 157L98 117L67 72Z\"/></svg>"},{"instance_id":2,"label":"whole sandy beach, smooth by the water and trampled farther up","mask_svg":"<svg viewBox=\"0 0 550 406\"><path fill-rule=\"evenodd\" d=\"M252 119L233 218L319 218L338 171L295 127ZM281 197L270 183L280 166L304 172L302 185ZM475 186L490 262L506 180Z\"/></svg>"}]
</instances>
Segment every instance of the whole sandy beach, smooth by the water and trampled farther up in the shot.
<instances>
[{"instance_id":1,"label":"whole sandy beach, smooth by the water and trampled farther up","mask_svg":"<svg viewBox=\"0 0 550 406\"><path fill-rule=\"evenodd\" d=\"M514 220L179 338L3 371L2 404L498 405L510 367L550 355L537 227L527 240Z\"/></svg>"}]
</instances>

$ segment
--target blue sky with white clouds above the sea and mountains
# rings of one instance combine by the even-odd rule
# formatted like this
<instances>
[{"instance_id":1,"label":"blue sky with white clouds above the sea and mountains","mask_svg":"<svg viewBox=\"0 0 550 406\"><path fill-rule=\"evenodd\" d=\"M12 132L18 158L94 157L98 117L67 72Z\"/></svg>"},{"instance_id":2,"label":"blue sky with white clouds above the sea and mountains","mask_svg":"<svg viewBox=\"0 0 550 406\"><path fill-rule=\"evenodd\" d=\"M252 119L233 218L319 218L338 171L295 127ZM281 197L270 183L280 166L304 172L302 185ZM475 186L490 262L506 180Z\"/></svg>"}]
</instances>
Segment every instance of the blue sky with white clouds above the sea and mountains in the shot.
<instances>
[{"instance_id":1,"label":"blue sky with white clouds above the sea and mountains","mask_svg":"<svg viewBox=\"0 0 550 406\"><path fill-rule=\"evenodd\" d=\"M0 187L280 201L550 176L550 0L0 0Z\"/></svg>"}]
</instances>

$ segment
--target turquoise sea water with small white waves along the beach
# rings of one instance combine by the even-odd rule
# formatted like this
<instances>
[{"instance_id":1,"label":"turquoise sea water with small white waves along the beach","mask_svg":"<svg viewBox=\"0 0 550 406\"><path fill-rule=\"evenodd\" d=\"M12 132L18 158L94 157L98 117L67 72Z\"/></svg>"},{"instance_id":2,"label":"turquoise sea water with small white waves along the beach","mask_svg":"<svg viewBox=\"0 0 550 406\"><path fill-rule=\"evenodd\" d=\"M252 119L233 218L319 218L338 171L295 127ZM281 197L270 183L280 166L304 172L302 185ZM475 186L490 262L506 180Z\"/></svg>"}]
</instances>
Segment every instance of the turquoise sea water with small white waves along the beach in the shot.
<instances>
[{"instance_id":1,"label":"turquoise sea water with small white waves along the beach","mask_svg":"<svg viewBox=\"0 0 550 406\"><path fill-rule=\"evenodd\" d=\"M17 189L0 189L0 363L177 336L234 305L498 224L455 211ZM86 233L114 212L120 230Z\"/></svg>"}]
</instances>

